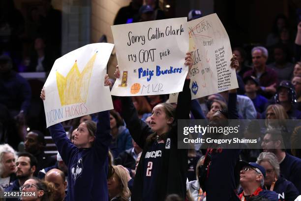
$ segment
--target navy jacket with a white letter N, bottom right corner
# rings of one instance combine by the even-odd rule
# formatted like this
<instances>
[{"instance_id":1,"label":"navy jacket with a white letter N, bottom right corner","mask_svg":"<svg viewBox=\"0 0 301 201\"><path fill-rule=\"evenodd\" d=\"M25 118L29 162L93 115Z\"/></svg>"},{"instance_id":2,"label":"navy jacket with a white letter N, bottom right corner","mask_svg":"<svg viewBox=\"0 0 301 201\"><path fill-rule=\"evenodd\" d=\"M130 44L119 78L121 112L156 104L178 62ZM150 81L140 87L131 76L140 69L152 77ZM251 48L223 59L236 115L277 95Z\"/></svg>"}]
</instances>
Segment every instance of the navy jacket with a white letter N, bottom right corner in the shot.
<instances>
[{"instance_id":1,"label":"navy jacket with a white letter N, bottom right corner","mask_svg":"<svg viewBox=\"0 0 301 201\"><path fill-rule=\"evenodd\" d=\"M296 186L280 175L275 183L274 189L278 194L279 201L295 201L299 196L299 191Z\"/></svg>"}]
</instances>

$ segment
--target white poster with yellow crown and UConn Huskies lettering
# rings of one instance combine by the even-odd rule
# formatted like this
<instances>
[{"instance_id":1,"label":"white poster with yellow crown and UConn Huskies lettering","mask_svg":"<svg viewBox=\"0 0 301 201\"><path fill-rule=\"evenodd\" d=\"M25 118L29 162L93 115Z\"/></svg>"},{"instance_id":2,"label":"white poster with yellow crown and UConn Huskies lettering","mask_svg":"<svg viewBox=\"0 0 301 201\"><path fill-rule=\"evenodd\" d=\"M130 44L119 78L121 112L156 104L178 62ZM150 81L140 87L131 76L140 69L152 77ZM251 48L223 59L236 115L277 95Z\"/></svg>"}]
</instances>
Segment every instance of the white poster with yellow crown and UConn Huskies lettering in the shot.
<instances>
[{"instance_id":1,"label":"white poster with yellow crown and UConn Huskies lettering","mask_svg":"<svg viewBox=\"0 0 301 201\"><path fill-rule=\"evenodd\" d=\"M104 86L114 44L94 43L57 59L44 84L47 128L59 122L113 109Z\"/></svg>"}]
</instances>

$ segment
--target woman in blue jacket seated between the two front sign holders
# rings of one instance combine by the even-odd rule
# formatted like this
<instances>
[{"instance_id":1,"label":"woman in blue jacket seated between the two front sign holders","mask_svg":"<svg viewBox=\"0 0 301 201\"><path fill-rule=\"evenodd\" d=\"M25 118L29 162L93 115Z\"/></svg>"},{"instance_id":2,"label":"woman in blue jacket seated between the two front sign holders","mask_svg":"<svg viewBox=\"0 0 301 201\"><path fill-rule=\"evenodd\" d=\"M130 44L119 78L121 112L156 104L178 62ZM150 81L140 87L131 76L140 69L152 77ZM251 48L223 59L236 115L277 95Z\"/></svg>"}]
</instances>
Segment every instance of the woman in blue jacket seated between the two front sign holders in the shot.
<instances>
[{"instance_id":1,"label":"woman in blue jacket seated between the two front sign holders","mask_svg":"<svg viewBox=\"0 0 301 201\"><path fill-rule=\"evenodd\" d=\"M124 126L120 114L114 109L110 110L110 127L112 135L110 150L114 158L117 158L122 151L133 147L132 137L128 129Z\"/></svg>"}]
</instances>

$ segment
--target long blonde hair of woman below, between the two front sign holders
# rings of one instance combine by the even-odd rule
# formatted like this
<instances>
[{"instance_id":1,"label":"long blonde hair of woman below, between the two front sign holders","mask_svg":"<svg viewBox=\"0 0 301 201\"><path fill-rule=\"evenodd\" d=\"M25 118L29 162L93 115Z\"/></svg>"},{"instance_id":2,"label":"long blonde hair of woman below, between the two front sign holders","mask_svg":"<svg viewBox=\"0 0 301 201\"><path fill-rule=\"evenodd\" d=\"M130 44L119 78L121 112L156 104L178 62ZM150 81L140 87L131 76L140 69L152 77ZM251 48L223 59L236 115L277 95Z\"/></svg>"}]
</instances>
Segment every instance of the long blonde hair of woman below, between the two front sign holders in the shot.
<instances>
[{"instance_id":1,"label":"long blonde hair of woman below, between the two front sign holders","mask_svg":"<svg viewBox=\"0 0 301 201\"><path fill-rule=\"evenodd\" d=\"M120 189L121 189L121 193L120 193L121 201L128 201L129 198L131 197L131 192L127 187L126 170L122 166L113 166L113 168L114 168L113 176L117 177L117 179L119 180L120 185L121 185L121 187L120 187Z\"/></svg>"}]
</instances>

